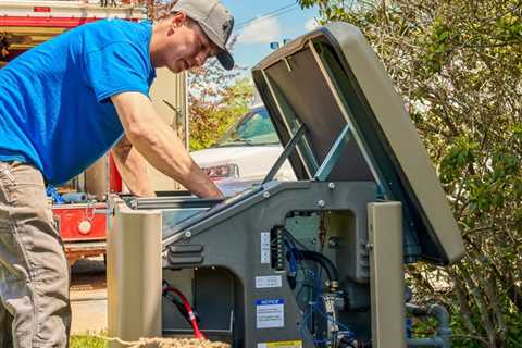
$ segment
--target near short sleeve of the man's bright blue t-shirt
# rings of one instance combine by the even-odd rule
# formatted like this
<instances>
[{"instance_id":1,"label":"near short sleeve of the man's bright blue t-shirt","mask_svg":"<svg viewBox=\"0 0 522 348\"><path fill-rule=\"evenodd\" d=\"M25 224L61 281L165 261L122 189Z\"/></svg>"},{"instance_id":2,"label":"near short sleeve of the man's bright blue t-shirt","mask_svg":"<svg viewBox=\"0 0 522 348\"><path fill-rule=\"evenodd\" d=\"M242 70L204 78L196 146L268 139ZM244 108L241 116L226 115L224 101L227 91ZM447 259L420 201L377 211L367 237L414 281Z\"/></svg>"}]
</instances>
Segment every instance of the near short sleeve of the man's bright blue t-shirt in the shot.
<instances>
[{"instance_id":1,"label":"near short sleeve of the man's bright blue t-shirt","mask_svg":"<svg viewBox=\"0 0 522 348\"><path fill-rule=\"evenodd\" d=\"M84 79L98 102L124 92L149 95L150 67L144 53L130 42L114 42L85 55Z\"/></svg>"}]
</instances>

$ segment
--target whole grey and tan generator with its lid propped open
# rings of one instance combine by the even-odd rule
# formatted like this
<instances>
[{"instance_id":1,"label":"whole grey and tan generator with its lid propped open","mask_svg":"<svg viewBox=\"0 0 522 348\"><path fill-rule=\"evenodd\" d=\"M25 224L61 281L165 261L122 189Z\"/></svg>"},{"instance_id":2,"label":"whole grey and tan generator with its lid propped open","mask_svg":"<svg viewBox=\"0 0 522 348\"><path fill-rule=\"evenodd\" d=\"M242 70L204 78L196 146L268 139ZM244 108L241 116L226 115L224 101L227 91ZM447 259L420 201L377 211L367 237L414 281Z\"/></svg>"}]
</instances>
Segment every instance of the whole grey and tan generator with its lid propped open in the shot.
<instances>
[{"instance_id":1,"label":"whole grey and tan generator with its lid propped open","mask_svg":"<svg viewBox=\"0 0 522 348\"><path fill-rule=\"evenodd\" d=\"M463 243L403 101L363 34L318 28L252 70L284 150L223 200L113 196L109 335L245 348L450 347L448 313L411 303L405 264ZM289 160L296 181L274 176ZM438 321L415 338L409 315Z\"/></svg>"}]
</instances>

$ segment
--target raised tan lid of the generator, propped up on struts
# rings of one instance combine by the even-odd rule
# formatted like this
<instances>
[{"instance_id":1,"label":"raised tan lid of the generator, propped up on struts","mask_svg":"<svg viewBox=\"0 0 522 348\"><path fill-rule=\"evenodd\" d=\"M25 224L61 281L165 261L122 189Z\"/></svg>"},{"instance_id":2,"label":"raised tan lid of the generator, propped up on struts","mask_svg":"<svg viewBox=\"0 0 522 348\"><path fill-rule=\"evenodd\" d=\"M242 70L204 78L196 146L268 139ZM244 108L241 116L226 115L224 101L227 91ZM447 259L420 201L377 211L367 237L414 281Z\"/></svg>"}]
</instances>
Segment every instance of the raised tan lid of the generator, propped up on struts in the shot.
<instances>
[{"instance_id":1,"label":"raised tan lid of the generator, propped up on struts","mask_svg":"<svg viewBox=\"0 0 522 348\"><path fill-rule=\"evenodd\" d=\"M417 246L419 258L439 264L461 257L462 239L427 152L357 27L331 23L311 32L266 57L252 75L283 146L304 128L289 157L299 179L318 179L330 165L321 179L375 182L385 199L402 202L405 253Z\"/></svg>"}]
</instances>

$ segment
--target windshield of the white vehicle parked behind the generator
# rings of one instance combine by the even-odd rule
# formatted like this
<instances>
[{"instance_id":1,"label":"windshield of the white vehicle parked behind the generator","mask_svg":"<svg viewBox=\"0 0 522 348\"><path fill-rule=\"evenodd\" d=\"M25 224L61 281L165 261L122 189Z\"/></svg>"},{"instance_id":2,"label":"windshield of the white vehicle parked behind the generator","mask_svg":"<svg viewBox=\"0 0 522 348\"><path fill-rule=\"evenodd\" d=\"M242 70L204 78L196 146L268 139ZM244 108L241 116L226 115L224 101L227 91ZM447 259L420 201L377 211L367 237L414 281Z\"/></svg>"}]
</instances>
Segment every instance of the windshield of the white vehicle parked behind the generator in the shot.
<instances>
[{"instance_id":1,"label":"windshield of the white vehicle parked behind the generator","mask_svg":"<svg viewBox=\"0 0 522 348\"><path fill-rule=\"evenodd\" d=\"M266 109L258 109L244 115L217 141L215 147L277 145L279 138Z\"/></svg>"}]
</instances>

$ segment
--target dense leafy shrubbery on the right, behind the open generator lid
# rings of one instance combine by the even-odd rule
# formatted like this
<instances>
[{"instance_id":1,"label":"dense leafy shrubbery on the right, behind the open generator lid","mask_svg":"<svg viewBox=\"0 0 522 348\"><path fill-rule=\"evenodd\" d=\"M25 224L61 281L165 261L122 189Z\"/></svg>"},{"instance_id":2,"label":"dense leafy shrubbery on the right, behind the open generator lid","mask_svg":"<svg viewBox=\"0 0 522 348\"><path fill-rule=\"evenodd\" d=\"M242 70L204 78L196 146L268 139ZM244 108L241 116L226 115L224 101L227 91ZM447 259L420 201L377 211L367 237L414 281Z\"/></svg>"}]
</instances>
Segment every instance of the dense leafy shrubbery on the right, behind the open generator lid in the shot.
<instances>
[{"instance_id":1,"label":"dense leafy shrubbery on the right, behind the open generator lid","mask_svg":"<svg viewBox=\"0 0 522 348\"><path fill-rule=\"evenodd\" d=\"M360 27L409 104L467 246L451 268L409 266L453 311L455 345L522 346L520 0L300 0ZM446 295L446 294L443 294Z\"/></svg>"}]
</instances>

